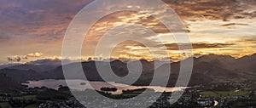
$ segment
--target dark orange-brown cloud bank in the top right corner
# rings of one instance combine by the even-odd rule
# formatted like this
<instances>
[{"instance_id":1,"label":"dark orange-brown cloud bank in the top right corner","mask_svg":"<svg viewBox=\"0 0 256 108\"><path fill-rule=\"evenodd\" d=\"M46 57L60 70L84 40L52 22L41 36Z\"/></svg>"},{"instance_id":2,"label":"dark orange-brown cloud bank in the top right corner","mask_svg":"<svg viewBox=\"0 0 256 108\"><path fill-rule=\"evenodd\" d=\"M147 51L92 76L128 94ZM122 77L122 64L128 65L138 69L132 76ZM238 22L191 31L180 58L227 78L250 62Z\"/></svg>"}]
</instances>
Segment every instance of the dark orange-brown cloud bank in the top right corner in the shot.
<instances>
[{"instance_id":1,"label":"dark orange-brown cloud bank in the top right corner","mask_svg":"<svg viewBox=\"0 0 256 108\"><path fill-rule=\"evenodd\" d=\"M164 0L184 19L230 20L254 18L254 0Z\"/></svg>"}]
</instances>

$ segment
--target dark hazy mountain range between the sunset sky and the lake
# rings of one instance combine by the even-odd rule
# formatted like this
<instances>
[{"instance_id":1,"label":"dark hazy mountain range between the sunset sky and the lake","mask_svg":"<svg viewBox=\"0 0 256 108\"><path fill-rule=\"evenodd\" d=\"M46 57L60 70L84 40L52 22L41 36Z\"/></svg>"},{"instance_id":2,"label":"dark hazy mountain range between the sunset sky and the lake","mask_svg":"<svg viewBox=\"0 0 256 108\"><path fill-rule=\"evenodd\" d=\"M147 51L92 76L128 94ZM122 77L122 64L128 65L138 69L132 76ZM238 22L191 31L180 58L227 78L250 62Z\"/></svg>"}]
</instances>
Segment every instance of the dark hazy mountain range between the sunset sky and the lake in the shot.
<instances>
[{"instance_id":1,"label":"dark hazy mountain range between the sunset sky and the lake","mask_svg":"<svg viewBox=\"0 0 256 108\"><path fill-rule=\"evenodd\" d=\"M177 82L179 75L180 61L172 62L168 64L166 62L155 61L156 67L154 67L154 61L138 60L142 65L142 74L133 85L148 85L154 74L159 74L160 77L169 77L168 86L172 87ZM103 71L110 71L108 69L108 63L110 62L111 69L114 74L119 77L125 77L129 72L138 72L138 61L124 62L121 60L113 61L84 61L82 63L71 63L66 65L72 71L68 72L68 75L76 75L72 78L84 79L81 72L76 67L76 64L82 64L84 75L90 81L104 81L98 70L96 64L101 67ZM127 65L130 67L128 70ZM256 54L250 56L244 56L239 59L233 58L229 55L208 54L199 58L194 58L194 65L192 71L192 77L190 78L189 86L204 85L212 82L216 77L227 78L241 78L256 77ZM171 75L168 74L166 68L171 66ZM154 69L160 73L154 73ZM81 74L81 75L79 75ZM2 77L2 78L1 78ZM41 79L64 79L61 60L37 60L21 65L13 65L0 70L1 79L9 79L17 85L18 82L26 82L29 80L41 80ZM108 82L122 82L122 80L114 80L111 77ZM9 81L9 80L6 80ZM4 88L5 81L1 82L1 88ZM161 83L155 83L158 86Z\"/></svg>"}]
</instances>

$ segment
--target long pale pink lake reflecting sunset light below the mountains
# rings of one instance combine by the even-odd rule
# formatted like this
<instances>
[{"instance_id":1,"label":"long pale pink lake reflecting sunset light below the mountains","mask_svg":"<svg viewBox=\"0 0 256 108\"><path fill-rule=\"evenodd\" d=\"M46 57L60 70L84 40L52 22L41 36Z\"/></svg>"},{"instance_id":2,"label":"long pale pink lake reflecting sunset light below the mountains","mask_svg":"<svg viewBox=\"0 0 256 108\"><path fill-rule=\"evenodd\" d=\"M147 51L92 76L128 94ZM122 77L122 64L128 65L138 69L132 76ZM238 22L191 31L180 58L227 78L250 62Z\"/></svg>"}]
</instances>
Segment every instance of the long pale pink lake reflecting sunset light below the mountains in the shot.
<instances>
[{"instance_id":1,"label":"long pale pink lake reflecting sunset light below the mountains","mask_svg":"<svg viewBox=\"0 0 256 108\"><path fill-rule=\"evenodd\" d=\"M108 88L118 88L116 92L113 94L121 94L122 90L127 89L137 89L137 88L152 88L156 92L161 92L164 87L159 86L130 86L122 83L116 83L116 82L88 82L84 80L54 80L54 79L47 79L47 80L39 80L39 81L28 81L27 83L23 83L23 85L27 85L28 88L35 88L35 87L47 87L47 88L54 88L58 89L60 85L67 86L67 83L69 83L69 88L72 90L85 90L93 87L96 90L100 90L102 87L108 87ZM187 87L177 87L177 88L165 88L166 92L174 92L174 91L181 91L184 88Z\"/></svg>"}]
</instances>

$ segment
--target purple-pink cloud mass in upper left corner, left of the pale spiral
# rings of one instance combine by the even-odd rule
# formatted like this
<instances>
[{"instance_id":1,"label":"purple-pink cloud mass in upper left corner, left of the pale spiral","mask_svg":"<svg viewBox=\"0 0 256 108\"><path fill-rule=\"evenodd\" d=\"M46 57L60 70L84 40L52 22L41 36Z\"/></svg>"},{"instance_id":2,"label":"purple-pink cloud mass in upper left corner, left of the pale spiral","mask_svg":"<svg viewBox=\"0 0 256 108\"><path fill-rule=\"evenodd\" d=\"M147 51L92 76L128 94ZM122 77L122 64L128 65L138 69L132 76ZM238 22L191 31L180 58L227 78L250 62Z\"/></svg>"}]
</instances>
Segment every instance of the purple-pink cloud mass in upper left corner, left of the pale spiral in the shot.
<instances>
[{"instance_id":1,"label":"purple-pink cloud mass in upper left corner, left of the pale spiral","mask_svg":"<svg viewBox=\"0 0 256 108\"><path fill-rule=\"evenodd\" d=\"M0 33L2 36L0 36L0 40L4 41L22 36L38 41L38 43L45 43L60 39L64 36L73 16L91 1L1 0Z\"/></svg>"}]
</instances>

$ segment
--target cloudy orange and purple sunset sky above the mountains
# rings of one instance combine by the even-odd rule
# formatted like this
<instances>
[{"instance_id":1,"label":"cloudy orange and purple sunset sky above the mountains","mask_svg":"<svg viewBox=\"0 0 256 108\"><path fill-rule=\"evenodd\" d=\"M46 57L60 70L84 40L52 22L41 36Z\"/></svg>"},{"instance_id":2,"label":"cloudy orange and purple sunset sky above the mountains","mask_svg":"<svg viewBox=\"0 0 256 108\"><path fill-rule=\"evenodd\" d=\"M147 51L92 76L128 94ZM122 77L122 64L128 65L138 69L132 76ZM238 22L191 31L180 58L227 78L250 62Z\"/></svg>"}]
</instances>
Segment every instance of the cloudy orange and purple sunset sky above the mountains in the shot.
<instances>
[{"instance_id":1,"label":"cloudy orange and purple sunset sky above the mountains","mask_svg":"<svg viewBox=\"0 0 256 108\"><path fill-rule=\"evenodd\" d=\"M193 54L224 54L239 58L256 53L256 1L254 0L163 0L183 21L193 45ZM0 64L28 62L40 59L61 59L61 48L67 27L74 16L93 0L0 0ZM125 6L119 4L119 6ZM111 8L111 6L109 6ZM102 8L109 8L102 7ZM130 8L132 6L125 6ZM161 8L161 7L159 7ZM90 10L94 16L101 12ZM147 10L145 10L147 11ZM156 11L165 13L165 9ZM164 16L163 16L164 17ZM86 16L84 16L86 18ZM114 26L130 24L101 37ZM132 25L140 24L156 32L148 34L147 29ZM79 24L83 26L86 24ZM126 31L126 32L125 32ZM130 31L127 34L127 31ZM84 31L81 31L84 32ZM152 59L148 47L161 52L167 49L173 60L181 58L182 51L166 26L152 15L121 11L108 14L95 25L84 38L82 58L94 57L96 45L102 41L101 50L113 47L113 41L123 37L137 37L151 44L125 41L114 46L112 58ZM74 36L75 37L75 36ZM158 42L158 38L166 40ZM164 45L160 46L160 45ZM157 58L166 56L157 54ZM69 59L79 59L69 58Z\"/></svg>"}]
</instances>

